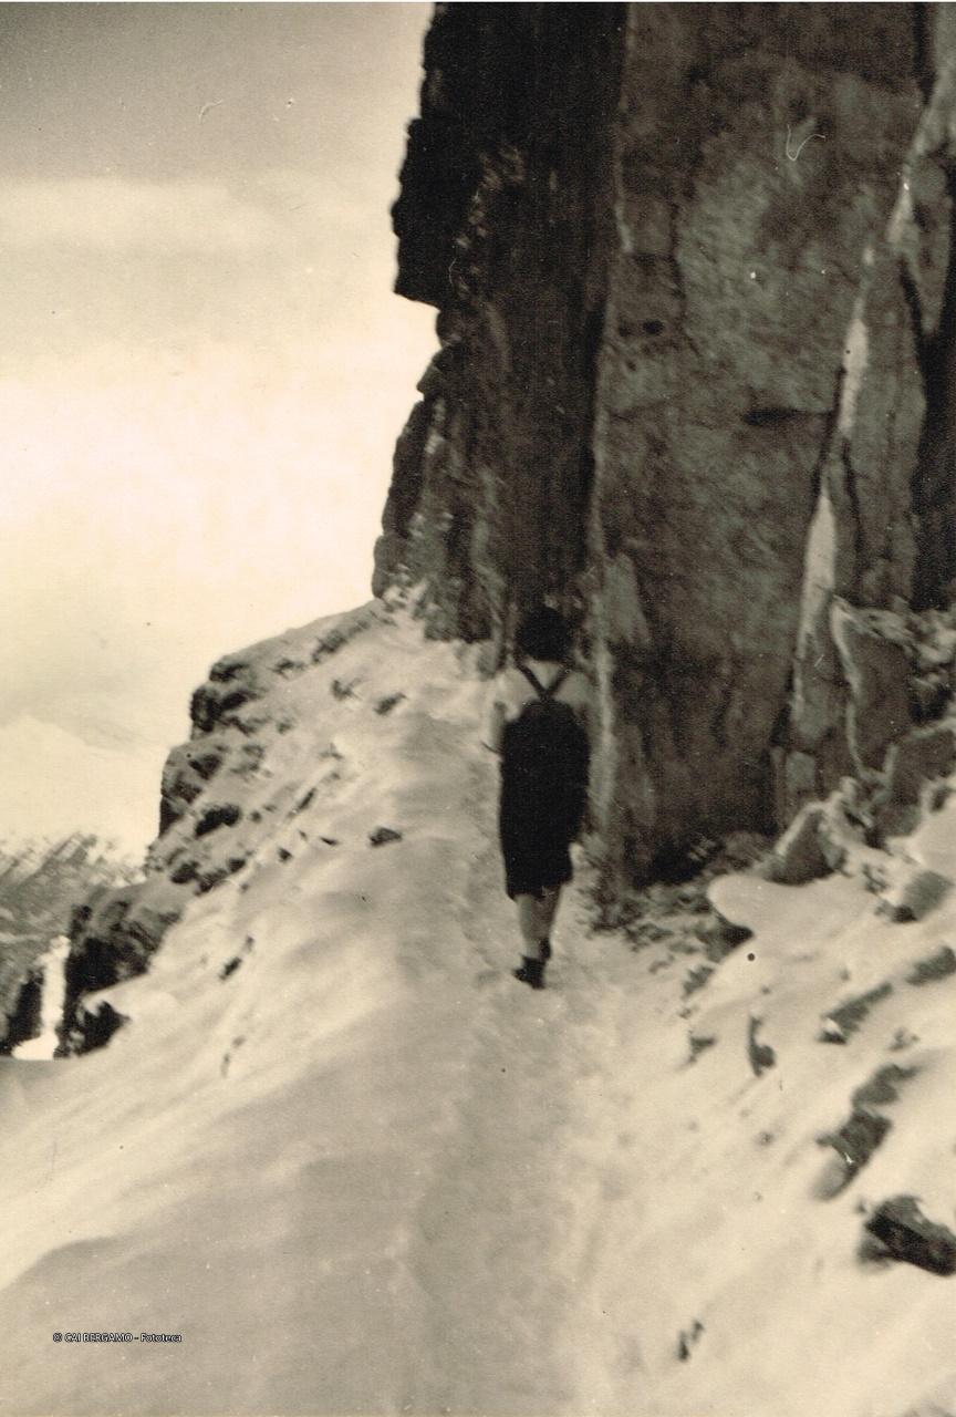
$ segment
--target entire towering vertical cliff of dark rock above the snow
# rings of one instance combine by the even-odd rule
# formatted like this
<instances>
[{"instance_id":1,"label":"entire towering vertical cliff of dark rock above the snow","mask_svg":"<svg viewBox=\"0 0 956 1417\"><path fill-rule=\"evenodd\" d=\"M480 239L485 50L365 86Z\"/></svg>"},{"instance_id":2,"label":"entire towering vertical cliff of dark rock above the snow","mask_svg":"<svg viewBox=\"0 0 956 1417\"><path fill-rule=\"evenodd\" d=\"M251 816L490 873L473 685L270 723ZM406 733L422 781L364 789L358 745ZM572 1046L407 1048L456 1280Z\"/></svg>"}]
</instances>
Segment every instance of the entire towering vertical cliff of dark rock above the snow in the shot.
<instances>
[{"instance_id":1,"label":"entire towering vertical cliff of dark rock above the snow","mask_svg":"<svg viewBox=\"0 0 956 1417\"><path fill-rule=\"evenodd\" d=\"M375 589L425 581L436 633L500 646L542 595L578 615L627 874L829 788L860 737L834 598L846 626L953 575L922 11L438 7L395 228L442 349Z\"/></svg>"}]
</instances>

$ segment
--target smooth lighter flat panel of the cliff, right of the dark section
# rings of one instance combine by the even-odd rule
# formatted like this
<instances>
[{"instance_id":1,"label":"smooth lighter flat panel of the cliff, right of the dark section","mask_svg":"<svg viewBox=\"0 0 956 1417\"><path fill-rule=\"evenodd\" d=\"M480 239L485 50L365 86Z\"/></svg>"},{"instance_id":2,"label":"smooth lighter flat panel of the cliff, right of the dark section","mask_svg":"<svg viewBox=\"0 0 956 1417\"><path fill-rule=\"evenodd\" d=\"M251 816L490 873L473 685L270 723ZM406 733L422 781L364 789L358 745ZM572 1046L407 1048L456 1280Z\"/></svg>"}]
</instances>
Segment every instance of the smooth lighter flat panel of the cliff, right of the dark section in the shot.
<instances>
[{"instance_id":1,"label":"smooth lighter flat panel of the cliff, right of the dark section","mask_svg":"<svg viewBox=\"0 0 956 1417\"><path fill-rule=\"evenodd\" d=\"M591 547L630 859L772 825L846 329L915 103L906 13L809 9L630 14Z\"/></svg>"}]
</instances>

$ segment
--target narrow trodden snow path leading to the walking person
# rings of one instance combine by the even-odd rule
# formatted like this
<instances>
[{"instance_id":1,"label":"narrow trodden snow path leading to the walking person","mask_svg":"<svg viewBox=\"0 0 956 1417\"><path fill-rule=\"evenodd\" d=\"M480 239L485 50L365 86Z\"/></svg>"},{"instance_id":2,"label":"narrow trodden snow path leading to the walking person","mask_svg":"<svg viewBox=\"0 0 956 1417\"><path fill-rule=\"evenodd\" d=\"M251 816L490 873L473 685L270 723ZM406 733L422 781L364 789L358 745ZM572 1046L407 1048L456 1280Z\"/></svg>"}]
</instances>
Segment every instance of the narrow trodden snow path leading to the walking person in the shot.
<instances>
[{"instance_id":1,"label":"narrow trodden snow path leading to the walking person","mask_svg":"<svg viewBox=\"0 0 956 1417\"><path fill-rule=\"evenodd\" d=\"M629 1101L615 1095L610 1071L627 996L596 955L619 956L619 983L635 971L620 942L585 935L584 903L571 888L550 988L511 979L520 937L489 781L473 774L483 846L460 922L477 965L473 1017L460 1040L455 1122L412 1226L426 1332L402 1410L572 1413L581 1410L574 1331L601 1206L620 1186L606 1156Z\"/></svg>"}]
</instances>

